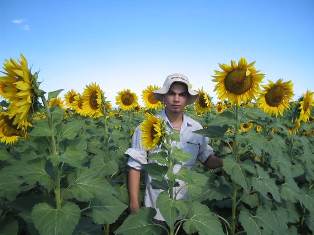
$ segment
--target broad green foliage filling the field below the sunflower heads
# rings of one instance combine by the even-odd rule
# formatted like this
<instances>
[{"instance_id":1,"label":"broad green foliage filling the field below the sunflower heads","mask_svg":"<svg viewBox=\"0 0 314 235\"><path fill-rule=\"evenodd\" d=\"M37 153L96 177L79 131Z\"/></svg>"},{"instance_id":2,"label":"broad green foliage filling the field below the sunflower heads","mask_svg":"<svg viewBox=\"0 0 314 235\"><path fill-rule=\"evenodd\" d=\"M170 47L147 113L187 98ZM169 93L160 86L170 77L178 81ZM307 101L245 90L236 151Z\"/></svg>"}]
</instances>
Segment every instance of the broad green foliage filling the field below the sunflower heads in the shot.
<instances>
[{"instance_id":1,"label":"broad green foliage filling the field below the sunflower heads","mask_svg":"<svg viewBox=\"0 0 314 235\"><path fill-rule=\"evenodd\" d=\"M59 92L49 93L49 99ZM304 132L313 133L314 122L301 122L293 132L291 106L278 118L245 105L219 115L212 108L200 117L193 105L186 107L204 127L196 133L209 137L216 155L225 159L215 170L197 162L195 171L183 167L173 173L172 165L189 154L165 143L164 151L149 157L157 163L144 167L154 178L152 186L162 190L156 204L170 234L179 227L199 235L313 233L314 135ZM48 108L50 118L33 120L28 140L1 144L0 234L160 234L155 209L132 214L128 209L124 152L148 111L110 111L107 118L89 118ZM248 120L253 128L239 131ZM178 180L188 187L187 200L171 196Z\"/></svg>"}]
</instances>

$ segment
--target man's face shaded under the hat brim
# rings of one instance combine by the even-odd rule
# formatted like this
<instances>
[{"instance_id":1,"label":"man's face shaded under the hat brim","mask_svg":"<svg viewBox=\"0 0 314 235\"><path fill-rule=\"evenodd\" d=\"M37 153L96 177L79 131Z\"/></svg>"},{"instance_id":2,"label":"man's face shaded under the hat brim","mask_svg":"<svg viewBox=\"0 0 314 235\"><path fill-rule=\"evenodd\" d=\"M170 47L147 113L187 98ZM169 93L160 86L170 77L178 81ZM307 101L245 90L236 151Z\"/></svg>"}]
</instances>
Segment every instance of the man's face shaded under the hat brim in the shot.
<instances>
[{"instance_id":1,"label":"man's face shaded under the hat brim","mask_svg":"<svg viewBox=\"0 0 314 235\"><path fill-rule=\"evenodd\" d=\"M167 114L182 112L186 106L188 95L187 88L183 83L173 83L168 93L163 96Z\"/></svg>"}]
</instances>

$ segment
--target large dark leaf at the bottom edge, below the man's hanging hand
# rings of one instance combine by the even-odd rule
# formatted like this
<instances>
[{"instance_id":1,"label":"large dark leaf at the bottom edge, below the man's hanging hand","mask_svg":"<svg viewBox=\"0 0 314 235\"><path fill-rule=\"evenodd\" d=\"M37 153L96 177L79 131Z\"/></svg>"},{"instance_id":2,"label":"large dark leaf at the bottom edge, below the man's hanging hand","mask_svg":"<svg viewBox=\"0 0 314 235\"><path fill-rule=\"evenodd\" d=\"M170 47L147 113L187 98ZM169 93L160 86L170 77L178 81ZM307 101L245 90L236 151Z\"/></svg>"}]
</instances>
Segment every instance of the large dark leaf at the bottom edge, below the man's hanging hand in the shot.
<instances>
[{"instance_id":1,"label":"large dark leaf at the bottom edge, below the man's hanging hand","mask_svg":"<svg viewBox=\"0 0 314 235\"><path fill-rule=\"evenodd\" d=\"M156 210L154 208L140 208L130 214L114 233L119 235L159 235L161 227L154 223L155 215Z\"/></svg>"}]
</instances>

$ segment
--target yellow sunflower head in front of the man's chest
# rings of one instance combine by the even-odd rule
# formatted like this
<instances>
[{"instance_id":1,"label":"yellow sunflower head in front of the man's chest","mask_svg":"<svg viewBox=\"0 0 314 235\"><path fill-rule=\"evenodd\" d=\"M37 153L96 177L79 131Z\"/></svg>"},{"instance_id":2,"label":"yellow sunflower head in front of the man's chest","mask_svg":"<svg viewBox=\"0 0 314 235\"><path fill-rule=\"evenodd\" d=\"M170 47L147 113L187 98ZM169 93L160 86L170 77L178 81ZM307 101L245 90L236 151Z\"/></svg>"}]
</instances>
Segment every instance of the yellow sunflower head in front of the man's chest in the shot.
<instances>
[{"instance_id":1,"label":"yellow sunflower head in front of the man's chest","mask_svg":"<svg viewBox=\"0 0 314 235\"><path fill-rule=\"evenodd\" d=\"M147 114L147 118L141 123L140 130L143 132L141 134L143 146L147 150L154 150L156 146L160 145L166 133L164 121L152 114Z\"/></svg>"}]
</instances>

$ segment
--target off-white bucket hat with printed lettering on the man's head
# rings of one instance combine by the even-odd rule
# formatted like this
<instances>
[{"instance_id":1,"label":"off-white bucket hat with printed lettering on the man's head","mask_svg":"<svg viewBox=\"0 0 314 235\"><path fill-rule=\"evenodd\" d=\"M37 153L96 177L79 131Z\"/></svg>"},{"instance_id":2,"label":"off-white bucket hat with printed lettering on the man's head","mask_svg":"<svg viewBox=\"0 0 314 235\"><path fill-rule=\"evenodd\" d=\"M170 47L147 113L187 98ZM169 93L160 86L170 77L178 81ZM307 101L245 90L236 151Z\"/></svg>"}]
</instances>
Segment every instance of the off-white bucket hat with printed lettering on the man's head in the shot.
<instances>
[{"instance_id":1,"label":"off-white bucket hat with printed lettering on the man's head","mask_svg":"<svg viewBox=\"0 0 314 235\"><path fill-rule=\"evenodd\" d=\"M169 91L172 83L174 82L180 82L186 85L187 91L190 94L189 97L187 98L186 105L194 103L194 101L198 98L199 94L195 92L193 89L191 89L190 82L188 81L187 77L180 73L174 73L167 76L165 83L163 84L163 87L160 88L159 90L153 91L155 99L163 102L163 95Z\"/></svg>"}]
</instances>

